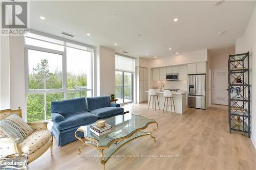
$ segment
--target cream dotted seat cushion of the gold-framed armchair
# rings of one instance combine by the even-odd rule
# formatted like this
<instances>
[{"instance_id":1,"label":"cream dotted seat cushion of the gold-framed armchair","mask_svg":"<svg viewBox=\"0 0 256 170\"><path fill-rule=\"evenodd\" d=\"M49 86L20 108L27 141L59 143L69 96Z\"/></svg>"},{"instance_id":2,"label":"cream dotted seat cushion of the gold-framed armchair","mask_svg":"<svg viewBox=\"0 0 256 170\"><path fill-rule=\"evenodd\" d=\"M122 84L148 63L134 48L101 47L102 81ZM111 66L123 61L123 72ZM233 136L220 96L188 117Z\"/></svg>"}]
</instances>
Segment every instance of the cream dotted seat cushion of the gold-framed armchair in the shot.
<instances>
[{"instance_id":1,"label":"cream dotted seat cushion of the gold-framed armchair","mask_svg":"<svg viewBox=\"0 0 256 170\"><path fill-rule=\"evenodd\" d=\"M50 139L50 130L35 131L27 136L22 142L20 142L18 146L23 153L31 154L36 150L39 150Z\"/></svg>"}]
</instances>

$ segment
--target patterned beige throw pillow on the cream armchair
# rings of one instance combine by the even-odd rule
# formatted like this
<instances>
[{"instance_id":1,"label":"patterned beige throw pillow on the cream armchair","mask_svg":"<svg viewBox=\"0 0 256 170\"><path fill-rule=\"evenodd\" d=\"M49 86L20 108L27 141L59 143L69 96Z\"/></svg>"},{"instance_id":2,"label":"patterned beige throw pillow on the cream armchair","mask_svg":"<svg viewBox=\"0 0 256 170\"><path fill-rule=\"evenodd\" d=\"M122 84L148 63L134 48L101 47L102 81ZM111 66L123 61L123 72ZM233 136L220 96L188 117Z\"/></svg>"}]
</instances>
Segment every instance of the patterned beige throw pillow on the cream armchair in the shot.
<instances>
[{"instance_id":1,"label":"patterned beige throw pillow on the cream armchair","mask_svg":"<svg viewBox=\"0 0 256 170\"><path fill-rule=\"evenodd\" d=\"M16 114L12 114L0 121L0 138L14 137L23 141L33 129Z\"/></svg>"}]
</instances>

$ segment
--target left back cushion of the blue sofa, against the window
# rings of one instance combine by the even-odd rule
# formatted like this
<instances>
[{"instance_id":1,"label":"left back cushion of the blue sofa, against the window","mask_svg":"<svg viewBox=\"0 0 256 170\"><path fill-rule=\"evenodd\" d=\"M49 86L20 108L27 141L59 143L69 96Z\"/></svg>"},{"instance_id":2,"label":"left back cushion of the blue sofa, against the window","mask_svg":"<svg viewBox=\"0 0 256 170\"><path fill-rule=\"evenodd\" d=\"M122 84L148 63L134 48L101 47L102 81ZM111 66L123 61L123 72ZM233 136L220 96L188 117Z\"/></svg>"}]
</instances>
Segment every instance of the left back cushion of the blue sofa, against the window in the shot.
<instances>
[{"instance_id":1,"label":"left back cushion of the blue sofa, against the window","mask_svg":"<svg viewBox=\"0 0 256 170\"><path fill-rule=\"evenodd\" d=\"M51 103L52 113L59 113L62 116L82 111L88 111L86 98L62 100Z\"/></svg>"}]
</instances>

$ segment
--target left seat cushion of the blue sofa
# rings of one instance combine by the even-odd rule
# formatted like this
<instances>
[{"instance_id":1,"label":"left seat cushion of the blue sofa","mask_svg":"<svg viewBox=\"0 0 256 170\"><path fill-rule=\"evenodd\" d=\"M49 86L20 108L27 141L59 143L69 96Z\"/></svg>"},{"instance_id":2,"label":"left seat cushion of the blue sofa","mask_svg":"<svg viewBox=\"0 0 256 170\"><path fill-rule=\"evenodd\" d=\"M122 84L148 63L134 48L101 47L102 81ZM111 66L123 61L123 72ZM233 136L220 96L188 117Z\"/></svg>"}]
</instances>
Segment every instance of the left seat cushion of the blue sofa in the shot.
<instances>
[{"instance_id":1,"label":"left seat cushion of the blue sofa","mask_svg":"<svg viewBox=\"0 0 256 170\"><path fill-rule=\"evenodd\" d=\"M98 117L89 112L79 112L65 116L65 120L57 124L58 130L69 129L89 122L96 122Z\"/></svg>"}]
</instances>

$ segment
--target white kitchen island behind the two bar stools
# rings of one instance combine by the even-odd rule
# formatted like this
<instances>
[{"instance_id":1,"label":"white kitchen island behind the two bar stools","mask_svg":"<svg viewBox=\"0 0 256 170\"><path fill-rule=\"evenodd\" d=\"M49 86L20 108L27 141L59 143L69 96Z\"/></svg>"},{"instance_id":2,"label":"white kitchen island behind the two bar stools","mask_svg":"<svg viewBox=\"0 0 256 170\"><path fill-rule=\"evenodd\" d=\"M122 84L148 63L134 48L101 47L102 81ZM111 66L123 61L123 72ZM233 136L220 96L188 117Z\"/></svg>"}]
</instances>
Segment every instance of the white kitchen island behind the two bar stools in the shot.
<instances>
[{"instance_id":1,"label":"white kitchen island behind the two bar stools","mask_svg":"<svg viewBox=\"0 0 256 170\"><path fill-rule=\"evenodd\" d=\"M148 92L148 91L145 91L145 92ZM175 111L176 113L182 114L186 110L186 91L172 91L172 93L174 98ZM165 97L163 96L163 91L156 89L156 94L158 95L160 110L163 110L163 104L165 99ZM150 95L148 95L147 101L150 102ZM169 101L170 100L168 100L168 107L167 107L168 112L171 111ZM156 98L156 103L157 103L157 98ZM152 100L151 100L150 108L152 108ZM158 109L158 106L156 106L156 108ZM164 111L166 112L166 103L165 103ZM173 112L174 112L174 108L173 108Z\"/></svg>"}]
</instances>

